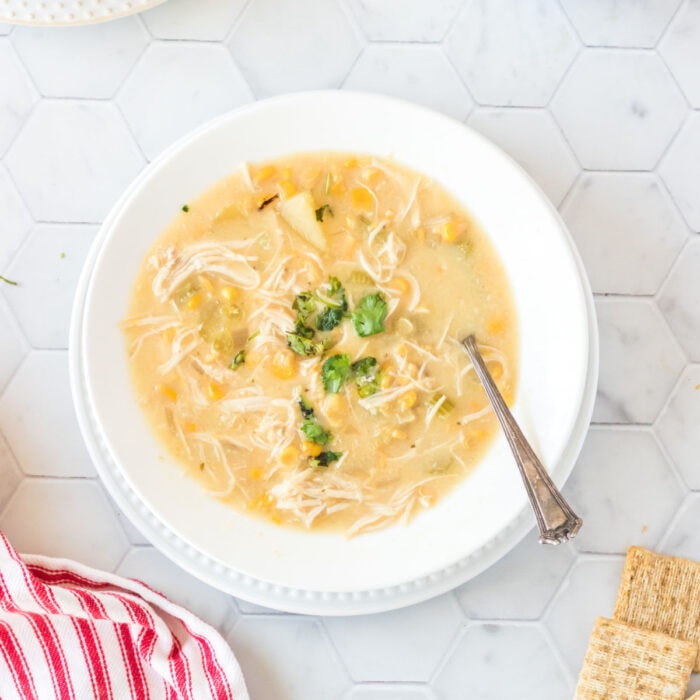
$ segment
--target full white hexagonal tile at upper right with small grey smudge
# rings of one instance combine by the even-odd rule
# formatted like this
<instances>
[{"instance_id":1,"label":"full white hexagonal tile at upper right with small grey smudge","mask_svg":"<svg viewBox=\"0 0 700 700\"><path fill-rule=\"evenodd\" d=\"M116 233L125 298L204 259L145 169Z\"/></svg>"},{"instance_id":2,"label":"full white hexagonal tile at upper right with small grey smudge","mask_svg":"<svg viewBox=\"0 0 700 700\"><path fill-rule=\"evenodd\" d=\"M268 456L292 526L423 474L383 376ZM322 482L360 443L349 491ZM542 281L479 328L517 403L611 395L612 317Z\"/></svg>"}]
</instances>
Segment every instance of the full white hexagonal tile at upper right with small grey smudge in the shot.
<instances>
[{"instance_id":1,"label":"full white hexagonal tile at upper right with small grey smudge","mask_svg":"<svg viewBox=\"0 0 700 700\"><path fill-rule=\"evenodd\" d=\"M687 105L650 51L584 51L552 111L585 168L649 170L671 142Z\"/></svg>"}]
</instances>

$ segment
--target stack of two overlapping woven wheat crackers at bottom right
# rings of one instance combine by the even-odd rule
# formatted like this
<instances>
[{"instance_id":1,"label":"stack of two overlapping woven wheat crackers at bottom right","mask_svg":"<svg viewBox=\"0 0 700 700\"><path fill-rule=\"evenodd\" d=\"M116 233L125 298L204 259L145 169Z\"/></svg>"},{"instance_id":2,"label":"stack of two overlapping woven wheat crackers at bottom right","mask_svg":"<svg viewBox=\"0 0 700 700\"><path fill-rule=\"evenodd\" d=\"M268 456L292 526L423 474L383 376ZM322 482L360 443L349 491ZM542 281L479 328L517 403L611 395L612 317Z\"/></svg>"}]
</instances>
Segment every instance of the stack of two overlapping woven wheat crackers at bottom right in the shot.
<instances>
[{"instance_id":1,"label":"stack of two overlapping woven wheat crackers at bottom right","mask_svg":"<svg viewBox=\"0 0 700 700\"><path fill-rule=\"evenodd\" d=\"M682 700L700 671L700 564L630 547L614 617L596 620L575 700Z\"/></svg>"}]
</instances>

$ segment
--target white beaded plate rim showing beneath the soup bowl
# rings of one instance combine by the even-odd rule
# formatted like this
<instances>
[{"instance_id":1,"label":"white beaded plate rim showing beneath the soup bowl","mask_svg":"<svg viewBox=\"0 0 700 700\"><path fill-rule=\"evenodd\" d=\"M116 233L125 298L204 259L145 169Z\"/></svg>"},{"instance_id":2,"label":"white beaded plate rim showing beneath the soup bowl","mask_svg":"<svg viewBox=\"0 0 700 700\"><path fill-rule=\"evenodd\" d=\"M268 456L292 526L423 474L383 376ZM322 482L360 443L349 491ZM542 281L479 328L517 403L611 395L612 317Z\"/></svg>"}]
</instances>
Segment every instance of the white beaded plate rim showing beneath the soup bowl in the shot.
<instances>
[{"instance_id":1,"label":"white beaded plate rim showing beneath the soup bowl","mask_svg":"<svg viewBox=\"0 0 700 700\"><path fill-rule=\"evenodd\" d=\"M226 116L227 115L225 115L224 118L226 118ZM214 120L214 122L216 121L219 120ZM204 125L202 130L209 128L211 124L212 122ZM191 136L192 134L188 135L186 138L191 138ZM171 149L168 149L168 151L177 150L178 147L179 142L171 147ZM516 167L522 172L519 166L516 165ZM496 559L500 558L500 556L507 552L526 534L532 522L532 517L527 509L511 521L497 538L494 538L487 546L482 548L483 551L472 553L466 557L465 560L460 560L446 569L433 572L429 576L416 579L409 583L402 583L399 586L367 591L334 593L289 588L259 581L243 575L231 567L224 566L220 562L210 559L202 552L195 550L189 544L180 540L167 526L160 522L129 487L124 477L119 473L118 468L111 463L110 455L105 448L99 427L94 420L94 416L91 414L89 398L84 386L85 376L82 371L82 313L84 310L85 295L90 283L92 264L94 264L95 258L97 257L102 239L109 228L109 223L116 215L116 212L119 211L123 202L128 199L129 194L133 192L143 178L146 177L146 172L147 171L144 171L144 173L134 181L132 186L128 188L105 220L103 228L93 244L90 256L83 270L78 293L76 294L71 325L71 383L81 430L83 431L88 449L96 463L100 476L117 501L119 507L134 522L137 528L142 530L159 549L195 576L198 576L222 590L226 590L254 603L281 608L291 612L360 614L408 605L437 595L444 590L448 590L485 569ZM536 186L535 189L539 192ZM544 201L547 201L541 193L540 196ZM550 207L554 216L558 217L556 210L548 201L547 205ZM583 271L580 256L565 228L562 228L562 233L566 236L566 242L571 249L572 256L579 270L580 283L587 306L590 347L588 353L588 373L576 425L572 431L561 462L553 469L561 483L563 483L573 468L576 456L578 455L587 431L592 414L598 372L597 327L590 287L585 272Z\"/></svg>"}]
</instances>

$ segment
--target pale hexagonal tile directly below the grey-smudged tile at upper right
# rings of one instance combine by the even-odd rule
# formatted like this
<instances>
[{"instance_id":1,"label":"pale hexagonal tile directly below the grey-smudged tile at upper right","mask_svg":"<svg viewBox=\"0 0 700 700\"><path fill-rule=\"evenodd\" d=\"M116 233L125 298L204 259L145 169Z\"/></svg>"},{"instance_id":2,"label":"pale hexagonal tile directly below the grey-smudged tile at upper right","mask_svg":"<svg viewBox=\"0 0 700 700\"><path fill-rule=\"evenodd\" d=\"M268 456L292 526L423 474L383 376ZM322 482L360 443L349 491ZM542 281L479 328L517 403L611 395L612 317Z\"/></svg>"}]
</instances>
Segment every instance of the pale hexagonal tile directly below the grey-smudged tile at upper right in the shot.
<instances>
[{"instance_id":1,"label":"pale hexagonal tile directly below the grey-smudged tile at upper right","mask_svg":"<svg viewBox=\"0 0 700 700\"><path fill-rule=\"evenodd\" d=\"M656 293L688 239L651 173L584 173L561 215L597 293Z\"/></svg>"}]
</instances>

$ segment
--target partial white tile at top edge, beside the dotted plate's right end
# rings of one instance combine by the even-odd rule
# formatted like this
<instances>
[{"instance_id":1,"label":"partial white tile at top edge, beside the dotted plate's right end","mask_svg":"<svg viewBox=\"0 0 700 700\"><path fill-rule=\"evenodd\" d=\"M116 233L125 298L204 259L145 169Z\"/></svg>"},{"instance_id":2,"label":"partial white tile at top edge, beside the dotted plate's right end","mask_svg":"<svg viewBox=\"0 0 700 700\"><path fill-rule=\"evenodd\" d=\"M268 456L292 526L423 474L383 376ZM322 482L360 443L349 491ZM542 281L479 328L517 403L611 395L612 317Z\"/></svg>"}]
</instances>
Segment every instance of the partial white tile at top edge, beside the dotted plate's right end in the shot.
<instances>
[{"instance_id":1,"label":"partial white tile at top edge, beside the dotted plate's right end","mask_svg":"<svg viewBox=\"0 0 700 700\"><path fill-rule=\"evenodd\" d=\"M221 41L246 0L168 0L141 14L157 39Z\"/></svg>"}]
</instances>

